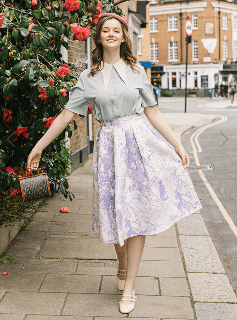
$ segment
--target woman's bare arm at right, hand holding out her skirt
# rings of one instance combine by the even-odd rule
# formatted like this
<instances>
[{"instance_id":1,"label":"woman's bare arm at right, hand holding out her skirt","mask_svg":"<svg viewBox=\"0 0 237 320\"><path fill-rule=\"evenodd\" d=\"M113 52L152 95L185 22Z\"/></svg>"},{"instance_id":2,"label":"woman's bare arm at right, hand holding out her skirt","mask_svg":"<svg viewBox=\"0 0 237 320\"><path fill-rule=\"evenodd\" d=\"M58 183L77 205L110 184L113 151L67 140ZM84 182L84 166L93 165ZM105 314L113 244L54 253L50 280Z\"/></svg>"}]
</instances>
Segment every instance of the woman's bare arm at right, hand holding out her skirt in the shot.
<instances>
[{"instance_id":1,"label":"woman's bare arm at right, hand holding out her skirt","mask_svg":"<svg viewBox=\"0 0 237 320\"><path fill-rule=\"evenodd\" d=\"M144 108L144 113L153 127L163 135L163 137L174 147L177 155L182 159L184 168L188 168L190 164L190 158L187 152L184 150L180 140L175 136L170 126L167 124L164 116L157 109L157 106Z\"/></svg>"}]
</instances>

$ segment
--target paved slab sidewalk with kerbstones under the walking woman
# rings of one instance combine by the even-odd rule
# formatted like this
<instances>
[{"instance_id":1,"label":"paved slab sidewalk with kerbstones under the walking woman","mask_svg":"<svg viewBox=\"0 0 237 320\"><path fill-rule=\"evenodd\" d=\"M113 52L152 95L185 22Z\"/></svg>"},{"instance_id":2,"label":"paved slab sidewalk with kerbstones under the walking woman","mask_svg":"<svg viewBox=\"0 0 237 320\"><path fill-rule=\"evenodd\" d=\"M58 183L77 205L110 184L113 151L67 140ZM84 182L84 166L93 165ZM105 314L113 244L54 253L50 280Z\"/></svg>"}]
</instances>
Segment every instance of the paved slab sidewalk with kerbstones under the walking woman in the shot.
<instances>
[{"instance_id":1,"label":"paved slab sidewalk with kerbstones under the walking woman","mask_svg":"<svg viewBox=\"0 0 237 320\"><path fill-rule=\"evenodd\" d=\"M167 116L179 132L213 120L189 115L185 122L182 115L175 124L175 118ZM58 194L47 200L6 252L17 264L0 266L1 320L237 319L236 296L200 212L146 237L135 309L121 314L114 246L100 243L91 229L92 155L68 179L75 199ZM221 317L213 317L218 312Z\"/></svg>"}]
</instances>

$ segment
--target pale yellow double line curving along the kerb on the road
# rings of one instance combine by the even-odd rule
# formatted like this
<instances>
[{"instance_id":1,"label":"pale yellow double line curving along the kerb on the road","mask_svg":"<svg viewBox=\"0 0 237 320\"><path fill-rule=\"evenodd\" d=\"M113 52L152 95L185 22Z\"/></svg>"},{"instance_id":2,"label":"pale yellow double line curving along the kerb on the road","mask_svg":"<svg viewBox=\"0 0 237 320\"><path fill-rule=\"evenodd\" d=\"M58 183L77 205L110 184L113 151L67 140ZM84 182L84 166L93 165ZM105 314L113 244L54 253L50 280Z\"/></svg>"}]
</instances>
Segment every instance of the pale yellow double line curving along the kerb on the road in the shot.
<instances>
[{"instance_id":1,"label":"pale yellow double line curving along the kerb on the road","mask_svg":"<svg viewBox=\"0 0 237 320\"><path fill-rule=\"evenodd\" d=\"M211 124L207 124L201 128L199 128L197 131L195 131L191 137L190 137L190 142L191 142L191 146L192 146L192 149L193 149L193 155L194 155L194 159L195 159L195 162L196 162L196 166L200 166L200 162L199 162L199 158L198 158L198 152L202 152L202 148L199 144L199 141L198 141L198 136L204 131L206 130L207 128L210 128L214 125L217 125L217 124L220 124L224 121L226 121L228 119L227 116L218 116L218 117L221 117L221 120L219 121L216 121L214 123L211 123ZM195 143L193 142L193 138L197 144L197 147L198 147L198 150L195 146ZM204 185L205 187L207 188L207 190L209 191L210 193L210 196L212 197L212 199L214 200L214 202L216 203L217 207L219 208L221 214L223 215L223 218L225 219L225 221L228 223L229 227L231 228L231 230L233 231L233 234L236 236L237 238L237 227L235 226L235 224L233 223L231 217L229 216L228 212L225 210L223 204L221 203L221 201L218 199L215 191L213 190L213 188L211 187L210 183L208 182L207 178L205 177L204 173L202 170L198 170L198 173L199 173L199 176L200 178L202 179L202 181L204 182Z\"/></svg>"}]
</instances>

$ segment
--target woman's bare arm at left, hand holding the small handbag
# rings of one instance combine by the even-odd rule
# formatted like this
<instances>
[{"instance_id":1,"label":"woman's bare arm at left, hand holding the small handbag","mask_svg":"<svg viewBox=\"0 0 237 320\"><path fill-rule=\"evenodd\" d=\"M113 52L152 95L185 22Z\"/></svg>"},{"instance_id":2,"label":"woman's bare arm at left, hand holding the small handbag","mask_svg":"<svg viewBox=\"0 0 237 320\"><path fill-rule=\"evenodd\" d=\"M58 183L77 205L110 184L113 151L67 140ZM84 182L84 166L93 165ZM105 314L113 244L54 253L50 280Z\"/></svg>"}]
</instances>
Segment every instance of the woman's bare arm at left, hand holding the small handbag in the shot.
<instances>
[{"instance_id":1,"label":"woman's bare arm at left, hand holding the small handbag","mask_svg":"<svg viewBox=\"0 0 237 320\"><path fill-rule=\"evenodd\" d=\"M27 159L27 170L30 167L39 166L39 160L44 148L46 148L66 128L76 115L77 113L64 109L62 113L56 117L47 132L31 150Z\"/></svg>"}]
</instances>

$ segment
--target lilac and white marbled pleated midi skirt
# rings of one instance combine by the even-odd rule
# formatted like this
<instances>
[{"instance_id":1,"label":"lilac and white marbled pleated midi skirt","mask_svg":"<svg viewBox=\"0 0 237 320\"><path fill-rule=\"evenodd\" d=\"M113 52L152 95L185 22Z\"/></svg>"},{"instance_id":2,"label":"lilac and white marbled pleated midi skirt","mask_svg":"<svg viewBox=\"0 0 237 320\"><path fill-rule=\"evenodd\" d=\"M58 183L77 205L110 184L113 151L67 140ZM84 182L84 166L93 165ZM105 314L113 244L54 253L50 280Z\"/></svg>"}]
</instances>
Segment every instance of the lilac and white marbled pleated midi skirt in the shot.
<instances>
[{"instance_id":1,"label":"lilac and white marbled pleated midi skirt","mask_svg":"<svg viewBox=\"0 0 237 320\"><path fill-rule=\"evenodd\" d=\"M93 167L92 228L100 242L122 246L202 207L182 160L141 115L101 122Z\"/></svg>"}]
</instances>

